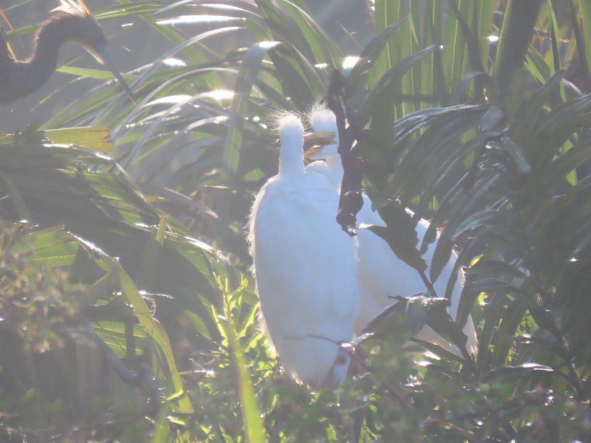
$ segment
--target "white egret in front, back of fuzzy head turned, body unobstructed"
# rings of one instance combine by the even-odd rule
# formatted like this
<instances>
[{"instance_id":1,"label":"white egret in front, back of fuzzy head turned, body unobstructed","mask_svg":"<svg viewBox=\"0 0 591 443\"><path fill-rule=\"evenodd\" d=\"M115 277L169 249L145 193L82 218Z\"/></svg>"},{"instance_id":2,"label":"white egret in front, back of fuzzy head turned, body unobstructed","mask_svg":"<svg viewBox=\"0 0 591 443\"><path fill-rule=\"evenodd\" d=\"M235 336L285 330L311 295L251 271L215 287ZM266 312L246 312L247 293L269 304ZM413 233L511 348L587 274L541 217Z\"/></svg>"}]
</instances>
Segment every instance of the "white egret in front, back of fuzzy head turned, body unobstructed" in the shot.
<instances>
[{"instance_id":1,"label":"white egret in front, back of fuzzy head turned, body unobstructed","mask_svg":"<svg viewBox=\"0 0 591 443\"><path fill-rule=\"evenodd\" d=\"M322 134L306 135L309 138ZM300 119L280 121L279 172L252 206L249 242L269 338L288 374L312 387L336 386L358 314L355 246L335 222L339 198L304 170Z\"/></svg>"}]
</instances>

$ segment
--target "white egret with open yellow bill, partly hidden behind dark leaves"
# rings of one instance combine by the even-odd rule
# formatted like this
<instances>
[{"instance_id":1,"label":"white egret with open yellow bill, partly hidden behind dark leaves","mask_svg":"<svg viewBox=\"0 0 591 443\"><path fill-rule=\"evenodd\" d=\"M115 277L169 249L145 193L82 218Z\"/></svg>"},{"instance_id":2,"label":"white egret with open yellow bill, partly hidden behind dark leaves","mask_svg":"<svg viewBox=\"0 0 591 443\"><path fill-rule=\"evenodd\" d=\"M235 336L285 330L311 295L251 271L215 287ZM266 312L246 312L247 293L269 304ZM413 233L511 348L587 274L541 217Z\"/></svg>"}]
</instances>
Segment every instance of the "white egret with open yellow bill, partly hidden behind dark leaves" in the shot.
<instances>
[{"instance_id":1,"label":"white egret with open yellow bill, partly hidden behind dark leaves","mask_svg":"<svg viewBox=\"0 0 591 443\"><path fill-rule=\"evenodd\" d=\"M307 165L307 171L314 171L327 178L333 188L340 192L340 184L343 179L343 165L340 155L337 153L338 132L335 114L329 109L314 109L310 116L310 124L314 131L330 131L335 133L336 144L315 146L306 151L306 157L310 159L324 159L324 161L315 161ZM407 212L411 213L407 209ZM357 216L359 224L376 224L385 226L384 220L377 211L371 210L371 200L366 194L363 194L363 207ZM429 223L426 220L420 220L417 224L417 234L419 242L423 241ZM359 334L365 326L376 317L384 308L392 304L389 296L410 295L424 292L426 290L423 280L418 272L408 266L392 252L388 243L373 232L365 229L357 230L358 237L358 271L357 282L359 288L359 315L355 320L355 333ZM430 263L433 259L434 247L431 245L424 254L424 259ZM434 289L440 297L446 292L447 281L452 275L452 270L456 262L457 255L452 252L449 262L441 271L440 277L434 282ZM456 318L457 308L460 302L460 294L464 285L464 274L460 270L456 282L453 286L451 296L451 305L447 311ZM478 350L478 340L472 317L469 315L463 332L467 336L466 349L470 354L476 354ZM437 344L447 351L462 357L457 346L444 340L431 327L427 325L417 334L415 338Z\"/></svg>"}]
</instances>

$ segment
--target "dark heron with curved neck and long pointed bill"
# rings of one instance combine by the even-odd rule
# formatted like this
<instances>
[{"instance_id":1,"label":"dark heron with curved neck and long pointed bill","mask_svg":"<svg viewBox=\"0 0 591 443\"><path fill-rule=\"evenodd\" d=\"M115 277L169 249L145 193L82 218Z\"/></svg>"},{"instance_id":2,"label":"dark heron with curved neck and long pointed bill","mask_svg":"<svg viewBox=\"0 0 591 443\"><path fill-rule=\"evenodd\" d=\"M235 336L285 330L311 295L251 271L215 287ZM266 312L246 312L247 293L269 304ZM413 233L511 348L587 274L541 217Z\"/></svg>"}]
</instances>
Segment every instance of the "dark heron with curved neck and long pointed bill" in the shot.
<instances>
[{"instance_id":1,"label":"dark heron with curved neck and long pointed bill","mask_svg":"<svg viewBox=\"0 0 591 443\"><path fill-rule=\"evenodd\" d=\"M107 53L106 40L95 18L75 0L60 0L56 14L41 23L33 39L33 53L26 60L12 58L0 34L0 103L10 103L39 89L57 67L61 45L74 41L105 65L125 92L134 97Z\"/></svg>"}]
</instances>

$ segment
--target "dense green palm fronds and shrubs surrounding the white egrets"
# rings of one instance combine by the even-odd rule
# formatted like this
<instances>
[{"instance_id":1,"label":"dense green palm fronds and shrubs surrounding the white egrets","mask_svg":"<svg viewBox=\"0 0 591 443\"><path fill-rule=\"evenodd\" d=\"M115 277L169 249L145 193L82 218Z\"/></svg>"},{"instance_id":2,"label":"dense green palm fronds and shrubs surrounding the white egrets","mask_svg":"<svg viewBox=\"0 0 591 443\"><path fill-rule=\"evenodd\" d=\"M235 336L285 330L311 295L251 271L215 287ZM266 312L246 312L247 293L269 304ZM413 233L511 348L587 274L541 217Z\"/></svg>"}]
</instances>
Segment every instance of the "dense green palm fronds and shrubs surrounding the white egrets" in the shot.
<instances>
[{"instance_id":1,"label":"dense green palm fronds and shrubs surrounding the white egrets","mask_svg":"<svg viewBox=\"0 0 591 443\"><path fill-rule=\"evenodd\" d=\"M362 186L385 238L443 227L428 279L455 248L478 357L408 354L424 322L462 334L402 300L339 389L291 383L245 220L277 170L273 114L309 109L345 57L300 0L121 1L93 12L167 41L125 74L136 103L100 84L0 139L2 441L591 441L588 2L371 8L343 87ZM391 244L420 268L427 244Z\"/></svg>"}]
</instances>

